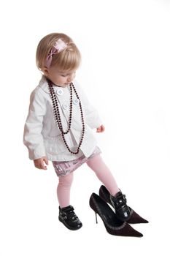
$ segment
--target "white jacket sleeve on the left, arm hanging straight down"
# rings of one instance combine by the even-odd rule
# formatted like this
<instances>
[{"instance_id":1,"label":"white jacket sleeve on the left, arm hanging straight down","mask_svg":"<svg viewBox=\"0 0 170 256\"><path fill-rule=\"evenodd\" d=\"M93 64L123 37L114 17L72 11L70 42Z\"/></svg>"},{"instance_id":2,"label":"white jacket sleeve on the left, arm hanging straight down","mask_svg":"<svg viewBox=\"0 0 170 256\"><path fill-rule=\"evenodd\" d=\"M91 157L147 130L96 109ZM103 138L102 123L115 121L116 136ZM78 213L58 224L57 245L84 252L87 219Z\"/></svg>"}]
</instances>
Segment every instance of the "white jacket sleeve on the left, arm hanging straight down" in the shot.
<instances>
[{"instance_id":1,"label":"white jacket sleeve on the left, arm hanging straight down","mask_svg":"<svg viewBox=\"0 0 170 256\"><path fill-rule=\"evenodd\" d=\"M23 133L23 143L28 148L30 159L38 159L46 155L42 137L43 117L45 113L45 98L35 89L31 93L28 116Z\"/></svg>"}]
</instances>

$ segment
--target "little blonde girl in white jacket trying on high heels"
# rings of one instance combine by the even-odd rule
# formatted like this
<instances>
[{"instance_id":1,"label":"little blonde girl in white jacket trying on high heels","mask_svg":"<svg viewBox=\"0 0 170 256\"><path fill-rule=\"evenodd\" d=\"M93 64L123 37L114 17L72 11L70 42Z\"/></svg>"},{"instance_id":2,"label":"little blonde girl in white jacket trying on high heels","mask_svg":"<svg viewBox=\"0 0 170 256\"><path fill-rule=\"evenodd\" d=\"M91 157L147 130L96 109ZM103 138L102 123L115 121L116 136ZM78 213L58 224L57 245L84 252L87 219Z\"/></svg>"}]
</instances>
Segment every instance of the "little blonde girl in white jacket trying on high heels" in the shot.
<instances>
[{"instance_id":1,"label":"little blonde girl in white jacket trying on high heels","mask_svg":"<svg viewBox=\"0 0 170 256\"><path fill-rule=\"evenodd\" d=\"M43 73L31 93L24 129L24 144L36 168L47 170L53 162L58 176L59 220L70 230L82 223L70 205L73 172L86 163L108 189L117 217L128 219L130 209L101 158L92 129L104 132L97 111L74 80L80 66L80 51L66 34L42 38L36 50L36 65Z\"/></svg>"}]
</instances>

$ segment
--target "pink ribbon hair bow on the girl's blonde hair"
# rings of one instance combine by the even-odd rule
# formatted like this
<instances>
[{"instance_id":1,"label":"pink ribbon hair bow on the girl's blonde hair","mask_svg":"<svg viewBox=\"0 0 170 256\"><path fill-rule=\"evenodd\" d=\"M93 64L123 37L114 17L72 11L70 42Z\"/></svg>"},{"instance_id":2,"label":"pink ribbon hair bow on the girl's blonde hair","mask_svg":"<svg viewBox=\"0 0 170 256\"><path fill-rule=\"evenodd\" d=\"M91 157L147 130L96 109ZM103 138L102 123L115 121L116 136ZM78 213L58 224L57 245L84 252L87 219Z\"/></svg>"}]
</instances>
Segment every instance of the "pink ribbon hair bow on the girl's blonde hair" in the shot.
<instances>
[{"instance_id":1,"label":"pink ribbon hair bow on the girl's blonde hair","mask_svg":"<svg viewBox=\"0 0 170 256\"><path fill-rule=\"evenodd\" d=\"M50 67L53 54L60 53L62 50L66 48L67 44L66 42L63 42L62 39L58 39L55 42L55 45L53 45L53 48L50 50L50 53L48 53L47 59L46 59L46 66L47 68Z\"/></svg>"}]
</instances>

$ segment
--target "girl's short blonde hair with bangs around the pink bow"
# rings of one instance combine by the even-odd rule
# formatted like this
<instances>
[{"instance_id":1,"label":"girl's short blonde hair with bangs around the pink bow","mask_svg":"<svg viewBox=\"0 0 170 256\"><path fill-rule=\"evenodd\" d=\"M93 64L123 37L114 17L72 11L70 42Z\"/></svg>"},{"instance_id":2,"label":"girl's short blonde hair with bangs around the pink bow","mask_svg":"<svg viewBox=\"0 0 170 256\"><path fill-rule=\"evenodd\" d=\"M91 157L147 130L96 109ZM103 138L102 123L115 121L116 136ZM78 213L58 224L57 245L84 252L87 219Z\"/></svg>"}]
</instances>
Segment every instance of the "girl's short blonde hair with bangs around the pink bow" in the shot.
<instances>
[{"instance_id":1,"label":"girl's short blonde hair with bangs around the pink bow","mask_svg":"<svg viewBox=\"0 0 170 256\"><path fill-rule=\"evenodd\" d=\"M47 56L50 53L50 50L55 45L55 42L58 39L62 39L66 43L66 48L63 49L60 53L53 54L51 66L56 65L59 69L66 71L71 69L77 69L80 66L81 55L80 50L74 44L72 39L66 34L62 33L52 33L47 34L39 42L39 45L36 48L36 66L43 71L46 65Z\"/></svg>"}]
</instances>

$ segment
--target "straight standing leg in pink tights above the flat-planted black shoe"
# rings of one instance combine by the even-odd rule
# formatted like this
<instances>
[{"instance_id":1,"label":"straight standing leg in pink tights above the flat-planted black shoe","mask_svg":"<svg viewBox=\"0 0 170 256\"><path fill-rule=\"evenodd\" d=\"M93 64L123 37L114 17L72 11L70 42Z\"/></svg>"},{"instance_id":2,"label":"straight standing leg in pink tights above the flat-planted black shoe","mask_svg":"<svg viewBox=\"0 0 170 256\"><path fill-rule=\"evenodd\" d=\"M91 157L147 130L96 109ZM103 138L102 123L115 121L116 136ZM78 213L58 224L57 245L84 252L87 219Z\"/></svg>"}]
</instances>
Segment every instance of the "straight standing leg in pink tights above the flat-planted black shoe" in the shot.
<instances>
[{"instance_id":1,"label":"straight standing leg in pink tights above the flat-planted black shoe","mask_svg":"<svg viewBox=\"0 0 170 256\"><path fill-rule=\"evenodd\" d=\"M61 208L70 205L70 189L73 181L73 173L69 173L66 176L59 176L57 196L58 203Z\"/></svg>"}]
</instances>

